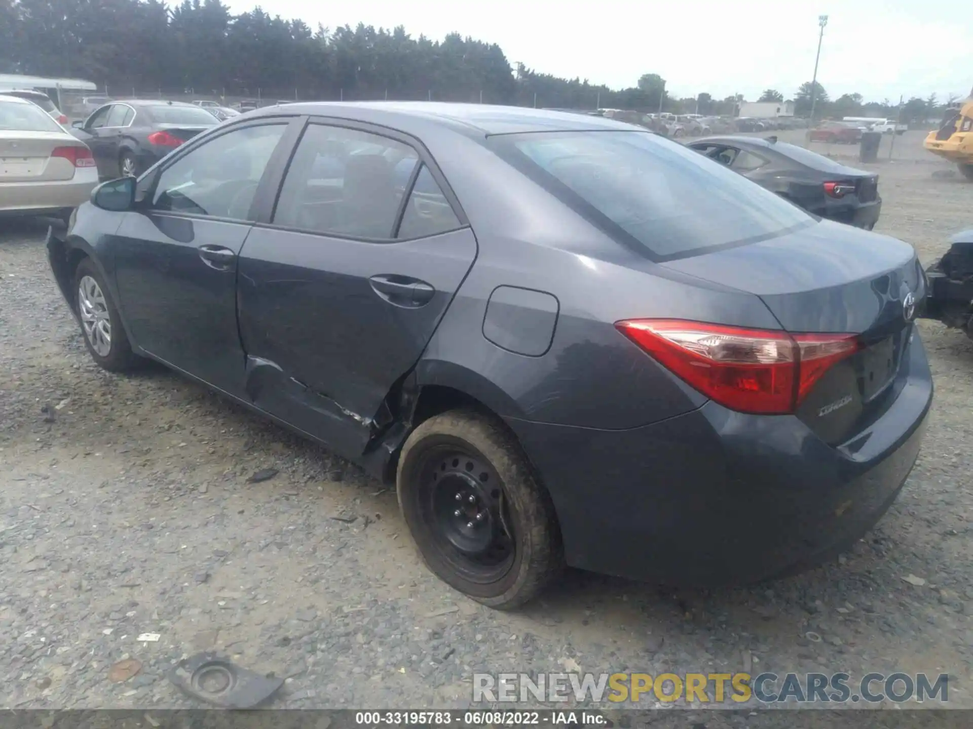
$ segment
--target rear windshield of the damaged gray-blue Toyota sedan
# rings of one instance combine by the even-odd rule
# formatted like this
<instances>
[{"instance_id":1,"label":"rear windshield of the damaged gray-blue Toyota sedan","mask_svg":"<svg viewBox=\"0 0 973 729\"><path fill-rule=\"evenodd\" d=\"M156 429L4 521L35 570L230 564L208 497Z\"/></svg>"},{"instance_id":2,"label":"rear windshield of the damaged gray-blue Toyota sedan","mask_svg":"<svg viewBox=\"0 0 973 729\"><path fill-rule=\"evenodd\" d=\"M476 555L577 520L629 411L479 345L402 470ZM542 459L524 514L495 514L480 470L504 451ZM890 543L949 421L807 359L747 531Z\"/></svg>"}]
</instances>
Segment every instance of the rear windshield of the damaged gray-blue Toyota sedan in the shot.
<instances>
[{"instance_id":1,"label":"rear windshield of the damaged gray-blue Toyota sedan","mask_svg":"<svg viewBox=\"0 0 973 729\"><path fill-rule=\"evenodd\" d=\"M814 221L773 192L650 132L497 135L490 143L595 225L657 260L763 240Z\"/></svg>"}]
</instances>

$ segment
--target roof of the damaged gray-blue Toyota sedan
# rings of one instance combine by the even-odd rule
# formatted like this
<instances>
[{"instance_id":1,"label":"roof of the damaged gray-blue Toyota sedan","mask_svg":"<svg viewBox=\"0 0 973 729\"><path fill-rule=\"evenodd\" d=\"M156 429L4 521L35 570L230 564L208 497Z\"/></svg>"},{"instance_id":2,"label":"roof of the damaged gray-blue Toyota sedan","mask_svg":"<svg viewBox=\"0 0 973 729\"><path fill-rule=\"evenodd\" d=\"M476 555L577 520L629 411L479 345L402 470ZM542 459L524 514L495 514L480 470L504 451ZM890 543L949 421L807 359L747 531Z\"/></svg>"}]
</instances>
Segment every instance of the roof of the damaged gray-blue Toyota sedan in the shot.
<instances>
[{"instance_id":1,"label":"roof of the damaged gray-blue Toyota sedan","mask_svg":"<svg viewBox=\"0 0 973 729\"><path fill-rule=\"evenodd\" d=\"M250 112L247 117L274 116L282 110L293 114L371 122L404 131L429 131L430 126L450 126L483 135L536 131L648 131L622 121L573 112L427 101L298 102L263 107Z\"/></svg>"}]
</instances>

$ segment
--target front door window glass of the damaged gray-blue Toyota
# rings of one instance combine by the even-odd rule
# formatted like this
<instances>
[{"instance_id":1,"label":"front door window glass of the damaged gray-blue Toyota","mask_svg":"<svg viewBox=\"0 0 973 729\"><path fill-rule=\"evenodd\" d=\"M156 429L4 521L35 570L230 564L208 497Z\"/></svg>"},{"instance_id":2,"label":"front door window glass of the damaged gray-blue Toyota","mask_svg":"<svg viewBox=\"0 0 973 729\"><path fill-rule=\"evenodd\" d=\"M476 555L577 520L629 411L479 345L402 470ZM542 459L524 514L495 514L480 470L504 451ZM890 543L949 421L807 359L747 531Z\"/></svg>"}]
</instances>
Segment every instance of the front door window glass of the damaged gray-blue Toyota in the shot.
<instances>
[{"instance_id":1,"label":"front door window glass of the damaged gray-blue Toyota","mask_svg":"<svg viewBox=\"0 0 973 729\"><path fill-rule=\"evenodd\" d=\"M286 128L276 123L234 129L179 157L162 170L153 209L251 220L260 178Z\"/></svg>"}]
</instances>

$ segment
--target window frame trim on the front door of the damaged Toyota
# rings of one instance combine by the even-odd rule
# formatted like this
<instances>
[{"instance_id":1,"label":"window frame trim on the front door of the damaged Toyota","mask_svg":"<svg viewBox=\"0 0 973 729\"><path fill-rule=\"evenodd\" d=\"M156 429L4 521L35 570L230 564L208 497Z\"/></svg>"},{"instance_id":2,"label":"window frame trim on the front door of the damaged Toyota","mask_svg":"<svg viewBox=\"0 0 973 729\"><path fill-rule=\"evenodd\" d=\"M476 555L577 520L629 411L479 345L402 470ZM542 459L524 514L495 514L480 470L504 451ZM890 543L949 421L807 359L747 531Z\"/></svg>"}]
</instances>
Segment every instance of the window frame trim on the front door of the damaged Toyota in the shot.
<instances>
[{"instance_id":1,"label":"window frame trim on the front door of the damaged Toyota","mask_svg":"<svg viewBox=\"0 0 973 729\"><path fill-rule=\"evenodd\" d=\"M257 225L257 219L266 209L268 198L275 189L275 186L279 184L279 180L281 179L281 172L279 168L282 160L286 161L286 159L288 159L292 154L293 148L297 141L297 134L299 133L300 128L303 126L304 119L306 118L296 115L267 116L260 117L258 119L248 119L246 121L240 121L227 126L219 124L213 127L213 129L219 130L218 133L204 131L198 134L192 140L179 147L178 150L172 154L172 156L163 157L162 160L146 170L138 179L138 183L142 183L143 181L148 182L148 187L139 191L142 197L142 203L138 208L139 212L147 215L158 215L167 218L188 218L199 221L216 221L220 223L234 223L241 226ZM250 203L250 210L247 217L253 220L241 221L236 218L227 218L224 216L199 215L198 213L188 213L176 210L156 210L152 207L152 198L155 197L156 190L159 186L159 180L165 170L169 169L169 167L171 167L173 164L177 163L183 157L191 154L194 150L197 150L208 141L216 139L217 137L225 136L226 134L237 131L238 129L249 128L251 126L284 127L284 133L281 134L280 139L277 140L277 146L270 155L267 166L264 168L264 174L261 175L260 181L257 183L257 190L254 192L253 201Z\"/></svg>"}]
</instances>

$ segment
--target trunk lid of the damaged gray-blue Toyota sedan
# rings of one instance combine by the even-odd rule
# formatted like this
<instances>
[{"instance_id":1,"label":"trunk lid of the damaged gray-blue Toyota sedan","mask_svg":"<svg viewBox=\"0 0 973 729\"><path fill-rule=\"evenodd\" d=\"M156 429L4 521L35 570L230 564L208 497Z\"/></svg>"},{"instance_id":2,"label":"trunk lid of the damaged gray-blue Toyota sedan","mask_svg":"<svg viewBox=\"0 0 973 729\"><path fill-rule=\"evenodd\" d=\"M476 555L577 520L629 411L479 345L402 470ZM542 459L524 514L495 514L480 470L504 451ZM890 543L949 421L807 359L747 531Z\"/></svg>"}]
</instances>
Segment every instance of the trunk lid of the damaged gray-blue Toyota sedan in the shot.
<instances>
[{"instance_id":1,"label":"trunk lid of the damaged gray-blue Toyota sedan","mask_svg":"<svg viewBox=\"0 0 973 729\"><path fill-rule=\"evenodd\" d=\"M858 335L861 348L817 382L797 413L827 442L844 442L870 425L897 392L893 383L925 295L907 243L824 221L661 265L759 296L789 332Z\"/></svg>"}]
</instances>

